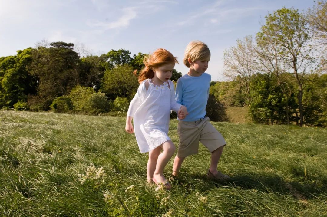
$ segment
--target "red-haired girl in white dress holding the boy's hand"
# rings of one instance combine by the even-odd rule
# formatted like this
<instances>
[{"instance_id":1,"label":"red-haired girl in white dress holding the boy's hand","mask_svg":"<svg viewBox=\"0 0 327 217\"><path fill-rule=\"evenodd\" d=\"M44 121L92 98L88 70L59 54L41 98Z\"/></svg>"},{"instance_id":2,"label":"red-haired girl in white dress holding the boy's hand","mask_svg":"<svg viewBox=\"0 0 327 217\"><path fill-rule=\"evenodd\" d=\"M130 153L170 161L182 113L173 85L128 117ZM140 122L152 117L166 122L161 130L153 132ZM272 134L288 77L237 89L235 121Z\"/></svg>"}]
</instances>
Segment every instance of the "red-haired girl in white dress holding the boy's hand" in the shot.
<instances>
[{"instance_id":1,"label":"red-haired girl in white dress holding the boy's hand","mask_svg":"<svg viewBox=\"0 0 327 217\"><path fill-rule=\"evenodd\" d=\"M152 179L158 186L163 183L170 189L163 175L164 167L175 152L175 145L167 135L170 110L178 112L180 119L187 114L186 107L176 102L174 83L169 80L178 61L169 51L157 49L143 62L145 68L139 75L140 86L129 104L125 130L133 133L135 129L141 153L149 152L147 181L150 183Z\"/></svg>"}]
</instances>

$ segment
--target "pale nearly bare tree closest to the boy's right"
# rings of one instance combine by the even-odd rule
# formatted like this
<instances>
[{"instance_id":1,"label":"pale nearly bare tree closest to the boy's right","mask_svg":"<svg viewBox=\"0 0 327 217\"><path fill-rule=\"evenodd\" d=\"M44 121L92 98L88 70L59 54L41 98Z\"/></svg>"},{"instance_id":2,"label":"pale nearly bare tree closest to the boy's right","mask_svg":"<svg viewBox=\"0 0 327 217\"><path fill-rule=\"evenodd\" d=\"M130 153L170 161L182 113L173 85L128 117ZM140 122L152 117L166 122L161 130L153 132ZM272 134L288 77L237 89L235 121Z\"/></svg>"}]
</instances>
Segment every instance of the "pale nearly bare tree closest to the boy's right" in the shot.
<instances>
[{"instance_id":1,"label":"pale nearly bare tree closest to the boy's right","mask_svg":"<svg viewBox=\"0 0 327 217\"><path fill-rule=\"evenodd\" d=\"M224 75L230 78L240 77L245 88L246 104L251 103L251 76L256 73L255 45L252 36L238 39L237 44L224 51Z\"/></svg>"}]
</instances>

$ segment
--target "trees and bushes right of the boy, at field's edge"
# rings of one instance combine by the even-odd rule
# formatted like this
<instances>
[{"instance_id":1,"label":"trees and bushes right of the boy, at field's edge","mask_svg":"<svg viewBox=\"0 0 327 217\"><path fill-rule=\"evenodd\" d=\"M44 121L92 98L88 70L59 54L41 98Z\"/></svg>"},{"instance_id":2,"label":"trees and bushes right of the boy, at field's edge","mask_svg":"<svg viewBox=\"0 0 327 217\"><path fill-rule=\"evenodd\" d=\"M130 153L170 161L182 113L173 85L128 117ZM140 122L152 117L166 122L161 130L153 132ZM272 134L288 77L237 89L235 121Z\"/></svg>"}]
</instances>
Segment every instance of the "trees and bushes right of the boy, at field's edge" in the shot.
<instances>
[{"instance_id":1,"label":"trees and bushes right of the boy, at field's edge","mask_svg":"<svg viewBox=\"0 0 327 217\"><path fill-rule=\"evenodd\" d=\"M224 74L212 94L248 106L255 123L327 126L327 1L300 13L268 13L260 31L224 52Z\"/></svg>"}]
</instances>

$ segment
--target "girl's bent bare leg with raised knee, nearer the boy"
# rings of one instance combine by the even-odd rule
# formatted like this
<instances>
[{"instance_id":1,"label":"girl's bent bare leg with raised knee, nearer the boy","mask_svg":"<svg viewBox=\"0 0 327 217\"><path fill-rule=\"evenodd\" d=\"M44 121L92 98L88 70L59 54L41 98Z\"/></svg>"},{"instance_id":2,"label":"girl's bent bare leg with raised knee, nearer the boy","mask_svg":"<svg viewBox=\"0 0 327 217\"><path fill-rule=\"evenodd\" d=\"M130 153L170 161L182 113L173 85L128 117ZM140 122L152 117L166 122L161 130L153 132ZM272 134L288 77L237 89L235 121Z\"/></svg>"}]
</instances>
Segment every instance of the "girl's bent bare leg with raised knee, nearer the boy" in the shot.
<instances>
[{"instance_id":1,"label":"girl's bent bare leg with raised knee, nearer the boy","mask_svg":"<svg viewBox=\"0 0 327 217\"><path fill-rule=\"evenodd\" d=\"M154 171L153 178L156 180L157 183L160 183L160 182L165 183L166 179L163 175L163 170L164 170L165 166L167 165L168 161L174 155L176 148L171 140L163 142L163 144L160 146L163 148L163 152L158 157L157 166Z\"/></svg>"}]
</instances>

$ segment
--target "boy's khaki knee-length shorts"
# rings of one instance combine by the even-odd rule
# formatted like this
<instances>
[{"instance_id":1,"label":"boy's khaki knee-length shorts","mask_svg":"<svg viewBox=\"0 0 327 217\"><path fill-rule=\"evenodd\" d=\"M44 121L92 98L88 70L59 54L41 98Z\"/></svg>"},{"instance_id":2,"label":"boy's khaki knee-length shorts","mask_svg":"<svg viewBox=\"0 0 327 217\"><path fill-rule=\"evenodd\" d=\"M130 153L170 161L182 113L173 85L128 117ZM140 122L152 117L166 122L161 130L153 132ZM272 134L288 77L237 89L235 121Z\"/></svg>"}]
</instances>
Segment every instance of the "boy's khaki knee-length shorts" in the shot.
<instances>
[{"instance_id":1,"label":"boy's khaki knee-length shorts","mask_svg":"<svg viewBox=\"0 0 327 217\"><path fill-rule=\"evenodd\" d=\"M199 142L210 152L226 145L222 135L210 124L209 117L198 121L179 121L177 132L180 138L177 155L181 158L198 154Z\"/></svg>"}]
</instances>

